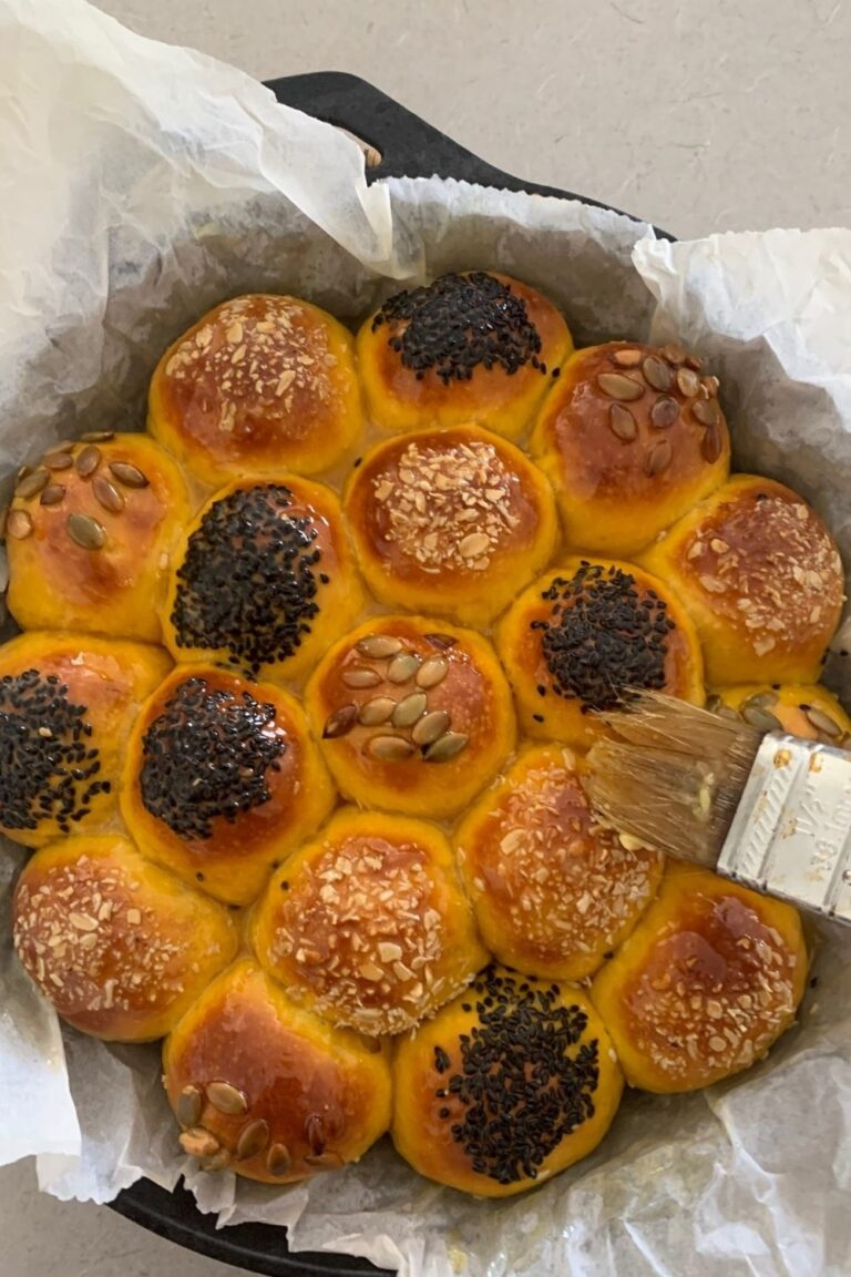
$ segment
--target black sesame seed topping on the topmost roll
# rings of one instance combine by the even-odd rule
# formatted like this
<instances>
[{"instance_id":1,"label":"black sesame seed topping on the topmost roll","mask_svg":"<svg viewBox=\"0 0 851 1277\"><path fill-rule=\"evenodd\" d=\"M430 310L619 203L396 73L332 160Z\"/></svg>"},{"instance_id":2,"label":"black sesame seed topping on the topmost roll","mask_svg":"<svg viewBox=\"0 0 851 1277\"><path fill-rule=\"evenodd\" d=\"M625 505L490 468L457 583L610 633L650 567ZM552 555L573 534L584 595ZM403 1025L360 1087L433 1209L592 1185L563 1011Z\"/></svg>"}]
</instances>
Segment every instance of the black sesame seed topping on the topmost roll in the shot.
<instances>
[{"instance_id":1,"label":"black sesame seed topping on the topmost roll","mask_svg":"<svg viewBox=\"0 0 851 1277\"><path fill-rule=\"evenodd\" d=\"M373 332L388 324L388 345L418 381L429 369L448 386L470 381L480 364L500 364L512 374L538 363L541 337L526 301L484 271L444 275L427 287L397 292L373 319Z\"/></svg>"}]
</instances>

